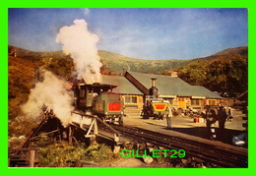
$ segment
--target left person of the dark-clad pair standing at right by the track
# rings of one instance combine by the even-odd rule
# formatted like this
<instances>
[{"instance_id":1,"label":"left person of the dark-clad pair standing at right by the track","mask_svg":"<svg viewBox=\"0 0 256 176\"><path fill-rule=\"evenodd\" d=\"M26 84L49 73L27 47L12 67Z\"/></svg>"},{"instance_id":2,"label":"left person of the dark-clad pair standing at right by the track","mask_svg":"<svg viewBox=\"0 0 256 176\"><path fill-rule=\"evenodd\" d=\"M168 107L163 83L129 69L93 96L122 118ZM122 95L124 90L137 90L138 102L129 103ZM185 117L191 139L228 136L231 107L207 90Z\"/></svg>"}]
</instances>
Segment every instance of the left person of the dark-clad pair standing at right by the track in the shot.
<instances>
[{"instance_id":1,"label":"left person of the dark-clad pair standing at right by the track","mask_svg":"<svg viewBox=\"0 0 256 176\"><path fill-rule=\"evenodd\" d=\"M208 136L211 140L216 140L215 123L217 120L217 114L214 109L211 109L209 105L206 105L206 127Z\"/></svg>"}]
</instances>

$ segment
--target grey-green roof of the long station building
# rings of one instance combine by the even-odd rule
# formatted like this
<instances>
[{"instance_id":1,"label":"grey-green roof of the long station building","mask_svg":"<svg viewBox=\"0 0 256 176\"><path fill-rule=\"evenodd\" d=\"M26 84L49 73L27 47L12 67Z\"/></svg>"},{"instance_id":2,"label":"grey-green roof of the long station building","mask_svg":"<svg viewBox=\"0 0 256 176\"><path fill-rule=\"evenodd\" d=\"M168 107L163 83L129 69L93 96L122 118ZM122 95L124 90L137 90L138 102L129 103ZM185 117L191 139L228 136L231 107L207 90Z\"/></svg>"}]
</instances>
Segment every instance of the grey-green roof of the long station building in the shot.
<instances>
[{"instance_id":1,"label":"grey-green roof of the long station building","mask_svg":"<svg viewBox=\"0 0 256 176\"><path fill-rule=\"evenodd\" d=\"M159 88L159 94L162 96L205 96L207 98L222 98L208 88L191 86L178 77L170 77L154 74L142 74L137 72L129 72L136 80L138 80L146 88L152 87L152 78L156 78L156 87ZM102 83L116 85L113 91L124 94L142 94L135 88L126 78L122 76L106 76L102 75Z\"/></svg>"}]
</instances>

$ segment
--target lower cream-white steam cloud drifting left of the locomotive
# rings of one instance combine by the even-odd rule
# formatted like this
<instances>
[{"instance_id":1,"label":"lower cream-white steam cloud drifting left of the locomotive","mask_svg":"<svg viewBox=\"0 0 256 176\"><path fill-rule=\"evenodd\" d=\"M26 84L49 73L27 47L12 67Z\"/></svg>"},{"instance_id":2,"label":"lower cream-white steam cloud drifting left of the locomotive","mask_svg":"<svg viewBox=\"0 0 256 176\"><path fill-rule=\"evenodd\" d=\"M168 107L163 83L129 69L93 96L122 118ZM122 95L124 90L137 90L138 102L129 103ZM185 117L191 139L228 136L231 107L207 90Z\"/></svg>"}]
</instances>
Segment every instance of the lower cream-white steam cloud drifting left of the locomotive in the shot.
<instances>
[{"instance_id":1,"label":"lower cream-white steam cloud drifting left of the locomotive","mask_svg":"<svg viewBox=\"0 0 256 176\"><path fill-rule=\"evenodd\" d=\"M65 81L56 78L48 71L42 74L43 81L36 83L31 89L28 102L22 106L23 111L29 118L38 118L41 114L43 105L52 109L54 114L60 119L63 126L70 122L71 95L66 90Z\"/></svg>"}]
</instances>

